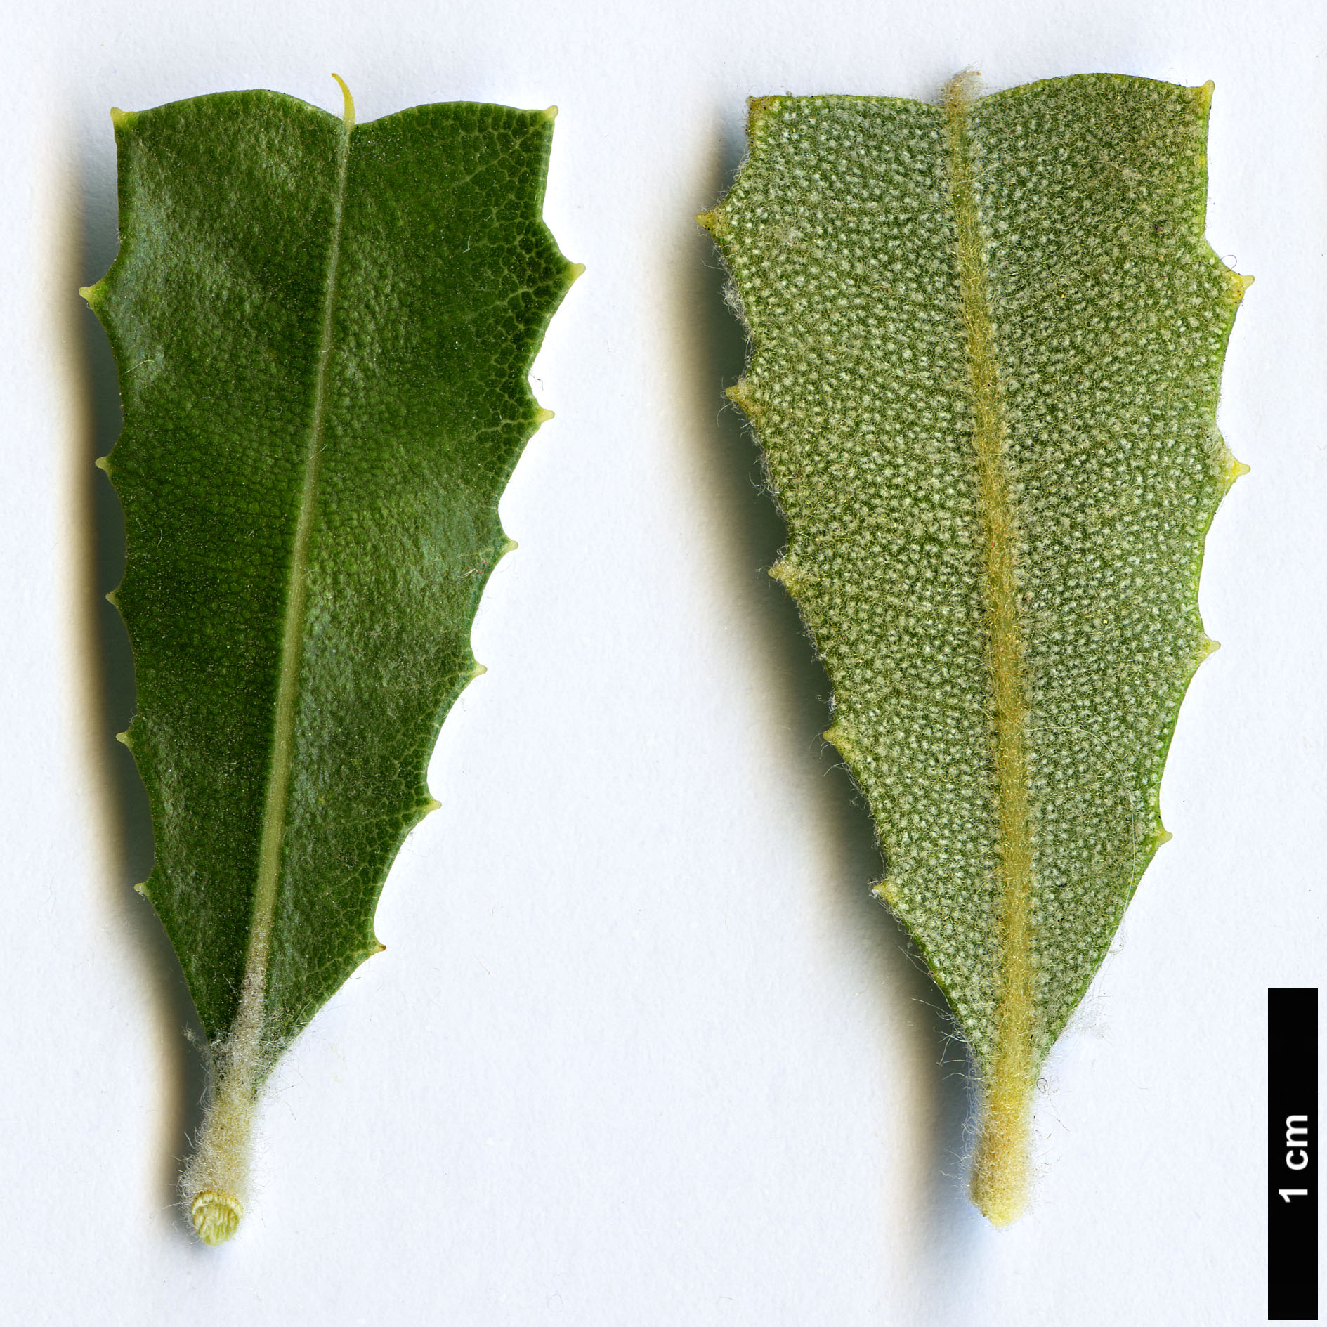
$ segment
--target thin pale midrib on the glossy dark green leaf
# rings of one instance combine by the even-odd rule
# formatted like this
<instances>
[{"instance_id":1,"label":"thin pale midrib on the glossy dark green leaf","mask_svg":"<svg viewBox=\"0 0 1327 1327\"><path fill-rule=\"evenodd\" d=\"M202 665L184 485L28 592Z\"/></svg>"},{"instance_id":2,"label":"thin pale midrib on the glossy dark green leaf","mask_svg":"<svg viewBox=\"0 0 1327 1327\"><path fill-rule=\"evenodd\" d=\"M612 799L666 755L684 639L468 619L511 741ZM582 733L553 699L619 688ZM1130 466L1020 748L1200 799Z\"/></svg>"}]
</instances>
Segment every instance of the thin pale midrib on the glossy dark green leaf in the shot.
<instances>
[{"instance_id":1,"label":"thin pale midrib on the glossy dark green leaf","mask_svg":"<svg viewBox=\"0 0 1327 1327\"><path fill-rule=\"evenodd\" d=\"M350 159L352 126L342 125L337 161L337 191L332 218L332 242L324 285L322 328L318 362L313 385L313 414L309 421L309 446L304 460L304 484L300 492L300 516L291 551L289 591L285 620L281 626L281 677L276 694L276 725L272 734L272 764L263 811L263 839L259 848L253 912L249 918L248 946L244 955L244 982L236 1016L236 1040L253 1039L252 1051L261 1048L263 1005L267 998L267 966L276 910L276 890L281 871L281 840L285 836L285 811L291 791L291 768L295 756L295 710L299 697L300 667L304 658L304 613L308 601L308 555L313 528L313 510L318 487L322 453L322 427L326 418L326 373L332 353L332 318L336 305L337 273L341 264L341 218L345 210L345 184ZM256 1063L252 1066L257 1068Z\"/></svg>"}]
</instances>

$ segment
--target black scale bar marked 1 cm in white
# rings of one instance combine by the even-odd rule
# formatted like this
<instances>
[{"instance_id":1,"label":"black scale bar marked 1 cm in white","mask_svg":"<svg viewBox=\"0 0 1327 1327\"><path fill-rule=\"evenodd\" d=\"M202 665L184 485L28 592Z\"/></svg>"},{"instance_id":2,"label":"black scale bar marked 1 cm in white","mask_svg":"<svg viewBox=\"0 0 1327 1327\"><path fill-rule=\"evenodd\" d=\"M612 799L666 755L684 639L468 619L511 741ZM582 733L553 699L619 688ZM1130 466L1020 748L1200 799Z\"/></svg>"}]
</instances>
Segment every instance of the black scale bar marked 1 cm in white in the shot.
<instances>
[{"instance_id":1,"label":"black scale bar marked 1 cm in white","mask_svg":"<svg viewBox=\"0 0 1327 1327\"><path fill-rule=\"evenodd\" d=\"M1267 991L1267 1318L1318 1320L1318 991Z\"/></svg>"}]
</instances>

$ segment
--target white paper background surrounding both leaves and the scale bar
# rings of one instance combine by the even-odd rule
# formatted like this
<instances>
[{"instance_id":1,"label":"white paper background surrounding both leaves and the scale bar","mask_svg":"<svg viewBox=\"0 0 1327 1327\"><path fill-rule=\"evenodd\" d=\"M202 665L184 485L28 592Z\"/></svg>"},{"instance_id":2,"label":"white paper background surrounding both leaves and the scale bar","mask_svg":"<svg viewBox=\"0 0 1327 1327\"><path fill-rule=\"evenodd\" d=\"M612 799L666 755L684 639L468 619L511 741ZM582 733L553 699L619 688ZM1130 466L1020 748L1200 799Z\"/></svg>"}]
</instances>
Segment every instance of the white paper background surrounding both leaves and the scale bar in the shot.
<instances>
[{"instance_id":1,"label":"white paper background surrounding both leaves and the scale bar","mask_svg":"<svg viewBox=\"0 0 1327 1327\"><path fill-rule=\"evenodd\" d=\"M1314 0L11 8L0 42L0 1279L16 1323L1105 1324L1265 1318L1265 991L1323 977L1327 135ZM966 1060L873 904L827 683L721 389L742 342L693 215L743 101L1216 80L1209 236L1258 281L1208 544L1223 649L1149 871L1052 1056L1032 1210L963 1194ZM232 1245L173 1206L200 1079L130 889L145 805L100 601L115 506L110 105L275 88L361 119L561 106L547 218L588 267L503 499L488 673L384 893L385 955L263 1112ZM100 531L100 533L98 533ZM100 577L100 581L98 581ZM109 581L107 581L109 577Z\"/></svg>"}]
</instances>

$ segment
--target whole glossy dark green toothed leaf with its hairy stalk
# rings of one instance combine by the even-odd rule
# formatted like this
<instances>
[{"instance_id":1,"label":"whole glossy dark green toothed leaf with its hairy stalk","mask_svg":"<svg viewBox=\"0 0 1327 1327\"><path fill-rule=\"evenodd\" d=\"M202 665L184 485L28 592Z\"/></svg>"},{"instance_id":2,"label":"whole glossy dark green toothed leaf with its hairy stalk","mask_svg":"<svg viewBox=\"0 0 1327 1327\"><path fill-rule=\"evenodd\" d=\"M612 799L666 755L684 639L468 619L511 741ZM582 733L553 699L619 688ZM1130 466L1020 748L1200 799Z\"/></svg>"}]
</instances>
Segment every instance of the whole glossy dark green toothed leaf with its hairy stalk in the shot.
<instances>
[{"instance_id":1,"label":"whole glossy dark green toothed leaf with its hairy stalk","mask_svg":"<svg viewBox=\"0 0 1327 1327\"><path fill-rule=\"evenodd\" d=\"M342 119L267 92L115 115L121 251L88 293L125 406L145 892L216 1062L204 1234L238 1221L272 1063L381 947L479 671L498 499L548 417L527 374L579 273L540 216L551 134L472 104L356 125L349 94Z\"/></svg>"}]
</instances>

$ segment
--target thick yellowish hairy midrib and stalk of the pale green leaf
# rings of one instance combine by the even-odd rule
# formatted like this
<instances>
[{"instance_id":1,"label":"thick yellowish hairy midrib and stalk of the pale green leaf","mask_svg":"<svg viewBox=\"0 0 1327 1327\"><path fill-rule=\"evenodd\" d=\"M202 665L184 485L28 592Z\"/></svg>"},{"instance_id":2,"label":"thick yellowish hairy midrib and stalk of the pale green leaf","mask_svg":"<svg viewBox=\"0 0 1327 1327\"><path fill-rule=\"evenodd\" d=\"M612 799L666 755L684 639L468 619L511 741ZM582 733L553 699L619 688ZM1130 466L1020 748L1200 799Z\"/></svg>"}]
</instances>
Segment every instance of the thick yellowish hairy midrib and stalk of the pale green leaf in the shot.
<instances>
[{"instance_id":1,"label":"thick yellowish hairy midrib and stalk of the pale green leaf","mask_svg":"<svg viewBox=\"0 0 1327 1327\"><path fill-rule=\"evenodd\" d=\"M1032 1048L1032 851L1028 808L1027 695L1023 685L1023 628L1018 612L1015 560L1018 518L1003 456L994 332L981 224L973 184L966 81L955 80L945 97L950 188L958 232L958 264L973 385L973 446L977 451L986 553L986 625L989 632L997 824L999 833L999 998L994 1047L987 1066L986 1119L974 1160L974 1196L990 1206L1022 1204L1026 1189L1026 1135L1034 1085ZM1018 1172L1018 1173L1011 1173ZM978 1200L981 1201L981 1198ZM1016 1212L1010 1213L1011 1220Z\"/></svg>"}]
</instances>

